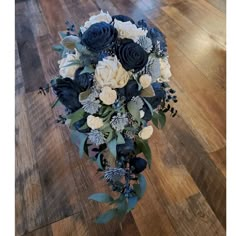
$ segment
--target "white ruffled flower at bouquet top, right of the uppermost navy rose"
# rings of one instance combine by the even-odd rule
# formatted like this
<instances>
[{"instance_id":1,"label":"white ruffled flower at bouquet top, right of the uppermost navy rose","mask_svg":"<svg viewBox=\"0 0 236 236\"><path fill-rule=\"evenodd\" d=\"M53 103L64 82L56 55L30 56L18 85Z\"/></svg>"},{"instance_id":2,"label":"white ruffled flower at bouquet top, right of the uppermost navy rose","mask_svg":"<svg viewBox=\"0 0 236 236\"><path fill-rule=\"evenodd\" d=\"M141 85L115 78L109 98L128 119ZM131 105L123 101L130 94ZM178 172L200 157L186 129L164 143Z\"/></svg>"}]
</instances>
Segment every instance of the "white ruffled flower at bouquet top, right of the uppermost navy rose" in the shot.
<instances>
[{"instance_id":1,"label":"white ruffled flower at bouquet top, right of the uppermost navy rose","mask_svg":"<svg viewBox=\"0 0 236 236\"><path fill-rule=\"evenodd\" d=\"M146 36L147 34L147 30L137 28L137 26L130 21L122 22L115 19L114 27L117 29L120 38L133 39L134 42L137 42L140 36Z\"/></svg>"}]
</instances>

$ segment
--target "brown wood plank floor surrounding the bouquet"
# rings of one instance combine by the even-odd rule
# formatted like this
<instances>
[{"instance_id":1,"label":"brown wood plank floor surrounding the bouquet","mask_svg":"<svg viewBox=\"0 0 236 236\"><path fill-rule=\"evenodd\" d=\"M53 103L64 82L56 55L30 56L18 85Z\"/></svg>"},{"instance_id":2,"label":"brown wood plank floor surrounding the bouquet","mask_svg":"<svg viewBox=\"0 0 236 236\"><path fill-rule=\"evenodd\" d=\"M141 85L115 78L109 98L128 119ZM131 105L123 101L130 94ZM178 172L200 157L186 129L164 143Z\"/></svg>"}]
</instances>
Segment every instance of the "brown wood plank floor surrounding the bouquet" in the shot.
<instances>
[{"instance_id":1,"label":"brown wood plank floor surrounding the bouquet","mask_svg":"<svg viewBox=\"0 0 236 236\"><path fill-rule=\"evenodd\" d=\"M53 98L37 94L58 72L51 45L65 20L99 9L165 32L179 96L179 116L150 140L147 192L122 230L93 223L108 206L87 197L109 190L55 123ZM16 235L225 235L225 45L224 0L16 0Z\"/></svg>"}]
</instances>

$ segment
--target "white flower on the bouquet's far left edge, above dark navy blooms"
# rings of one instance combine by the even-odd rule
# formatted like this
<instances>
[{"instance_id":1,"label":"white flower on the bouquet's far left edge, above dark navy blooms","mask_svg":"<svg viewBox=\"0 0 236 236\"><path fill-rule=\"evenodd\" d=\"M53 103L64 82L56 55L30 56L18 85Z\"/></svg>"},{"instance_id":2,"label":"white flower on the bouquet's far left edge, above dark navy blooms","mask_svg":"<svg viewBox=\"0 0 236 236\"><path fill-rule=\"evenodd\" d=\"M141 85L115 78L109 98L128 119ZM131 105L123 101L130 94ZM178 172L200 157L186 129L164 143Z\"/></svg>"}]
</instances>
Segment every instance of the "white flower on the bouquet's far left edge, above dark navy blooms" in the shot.
<instances>
[{"instance_id":1,"label":"white flower on the bouquet's far left edge, above dark navy blooms","mask_svg":"<svg viewBox=\"0 0 236 236\"><path fill-rule=\"evenodd\" d=\"M73 63L73 61L75 62L75 60L79 60L80 54L77 51L77 49L75 49L75 54L67 54L67 56L65 58L62 58L58 63L59 65L59 74L63 77L63 78L71 78L74 79L74 75L75 75L75 71L79 68L79 64L75 64L75 65L70 65L71 63Z\"/></svg>"}]
</instances>

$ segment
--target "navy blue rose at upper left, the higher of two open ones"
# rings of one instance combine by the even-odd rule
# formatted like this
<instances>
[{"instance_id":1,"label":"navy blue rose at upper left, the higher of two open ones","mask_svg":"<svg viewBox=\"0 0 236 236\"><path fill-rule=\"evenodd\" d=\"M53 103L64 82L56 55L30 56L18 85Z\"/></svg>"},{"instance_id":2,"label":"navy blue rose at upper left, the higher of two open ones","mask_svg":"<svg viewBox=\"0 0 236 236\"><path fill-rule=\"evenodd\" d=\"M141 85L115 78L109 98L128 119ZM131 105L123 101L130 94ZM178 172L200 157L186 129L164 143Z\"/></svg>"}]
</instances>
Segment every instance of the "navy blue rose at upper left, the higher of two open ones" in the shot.
<instances>
[{"instance_id":1,"label":"navy blue rose at upper left, the higher of two open ones","mask_svg":"<svg viewBox=\"0 0 236 236\"><path fill-rule=\"evenodd\" d=\"M113 25L99 22L91 25L82 35L82 44L92 52L100 52L114 45L118 32Z\"/></svg>"}]
</instances>

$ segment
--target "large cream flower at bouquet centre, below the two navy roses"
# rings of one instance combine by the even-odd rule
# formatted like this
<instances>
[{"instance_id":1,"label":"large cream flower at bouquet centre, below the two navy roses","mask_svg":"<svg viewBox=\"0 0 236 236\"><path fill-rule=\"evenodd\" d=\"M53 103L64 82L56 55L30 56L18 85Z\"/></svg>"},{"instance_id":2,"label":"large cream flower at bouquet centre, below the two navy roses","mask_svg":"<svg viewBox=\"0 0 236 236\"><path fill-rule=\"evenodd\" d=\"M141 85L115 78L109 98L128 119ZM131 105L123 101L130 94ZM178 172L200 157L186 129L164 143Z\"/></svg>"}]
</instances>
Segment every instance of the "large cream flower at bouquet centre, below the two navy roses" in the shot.
<instances>
[{"instance_id":1,"label":"large cream flower at bouquet centre, below the two navy roses","mask_svg":"<svg viewBox=\"0 0 236 236\"><path fill-rule=\"evenodd\" d=\"M100 87L123 88L130 78L117 57L108 56L99 61L95 70L95 79Z\"/></svg>"}]
</instances>

